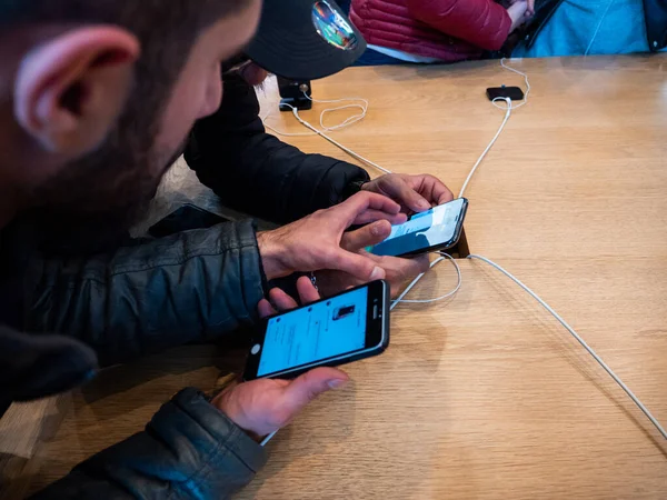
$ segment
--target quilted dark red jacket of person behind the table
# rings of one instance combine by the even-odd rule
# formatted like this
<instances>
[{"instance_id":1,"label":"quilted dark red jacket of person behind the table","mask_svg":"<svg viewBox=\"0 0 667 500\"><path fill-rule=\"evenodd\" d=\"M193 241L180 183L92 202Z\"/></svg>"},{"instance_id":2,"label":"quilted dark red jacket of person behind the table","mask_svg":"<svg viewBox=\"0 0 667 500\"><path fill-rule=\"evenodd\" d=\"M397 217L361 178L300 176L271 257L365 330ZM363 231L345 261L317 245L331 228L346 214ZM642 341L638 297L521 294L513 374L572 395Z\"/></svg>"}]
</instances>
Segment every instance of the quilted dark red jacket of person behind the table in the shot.
<instances>
[{"instance_id":1,"label":"quilted dark red jacket of person behind the table","mask_svg":"<svg viewBox=\"0 0 667 500\"><path fill-rule=\"evenodd\" d=\"M494 0L352 0L368 43L454 62L505 43L511 19Z\"/></svg>"}]
</instances>

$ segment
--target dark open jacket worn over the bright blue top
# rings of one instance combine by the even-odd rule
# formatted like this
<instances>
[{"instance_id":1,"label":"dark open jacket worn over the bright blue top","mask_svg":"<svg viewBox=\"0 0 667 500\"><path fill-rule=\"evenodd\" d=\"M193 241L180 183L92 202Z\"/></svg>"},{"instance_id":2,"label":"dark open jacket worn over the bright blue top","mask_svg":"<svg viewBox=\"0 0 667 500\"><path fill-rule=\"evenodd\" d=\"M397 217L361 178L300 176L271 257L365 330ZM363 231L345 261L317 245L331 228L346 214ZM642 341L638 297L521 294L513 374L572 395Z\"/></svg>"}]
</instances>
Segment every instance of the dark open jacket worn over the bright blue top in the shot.
<instances>
[{"instance_id":1,"label":"dark open jacket worn over the bright blue top","mask_svg":"<svg viewBox=\"0 0 667 500\"><path fill-rule=\"evenodd\" d=\"M535 18L522 32L522 40L528 49L532 47L539 32L563 2L564 0L537 1ZM650 51L657 52L667 47L667 2L665 0L644 0L644 18Z\"/></svg>"}]
</instances>

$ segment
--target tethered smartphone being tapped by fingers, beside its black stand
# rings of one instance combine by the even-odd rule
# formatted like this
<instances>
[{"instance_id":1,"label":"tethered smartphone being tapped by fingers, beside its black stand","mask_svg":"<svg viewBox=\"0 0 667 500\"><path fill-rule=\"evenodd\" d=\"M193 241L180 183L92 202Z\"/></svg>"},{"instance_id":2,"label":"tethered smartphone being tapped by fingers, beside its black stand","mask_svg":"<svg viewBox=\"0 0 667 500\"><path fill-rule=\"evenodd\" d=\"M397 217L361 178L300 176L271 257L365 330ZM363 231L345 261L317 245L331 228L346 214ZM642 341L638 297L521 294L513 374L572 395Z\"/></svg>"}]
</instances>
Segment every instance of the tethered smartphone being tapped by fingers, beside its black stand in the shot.
<instances>
[{"instance_id":1,"label":"tethered smartphone being tapped by fingers, beside its black stand","mask_svg":"<svg viewBox=\"0 0 667 500\"><path fill-rule=\"evenodd\" d=\"M385 241L367 250L376 256L391 257L447 250L458 243L467 210L468 200L459 198L416 213L407 222L391 228Z\"/></svg>"}]
</instances>

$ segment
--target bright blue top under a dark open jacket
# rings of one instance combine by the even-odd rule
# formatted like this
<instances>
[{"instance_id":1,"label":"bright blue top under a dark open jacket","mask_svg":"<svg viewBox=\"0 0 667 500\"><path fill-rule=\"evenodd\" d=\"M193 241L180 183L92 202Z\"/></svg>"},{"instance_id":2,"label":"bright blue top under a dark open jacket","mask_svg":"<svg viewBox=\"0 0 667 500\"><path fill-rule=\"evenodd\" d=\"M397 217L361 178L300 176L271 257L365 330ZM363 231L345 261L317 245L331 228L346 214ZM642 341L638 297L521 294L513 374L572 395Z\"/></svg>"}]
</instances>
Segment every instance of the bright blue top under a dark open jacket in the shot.
<instances>
[{"instance_id":1,"label":"bright blue top under a dark open jacket","mask_svg":"<svg viewBox=\"0 0 667 500\"><path fill-rule=\"evenodd\" d=\"M565 0L518 58L648 52L641 0Z\"/></svg>"}]
</instances>

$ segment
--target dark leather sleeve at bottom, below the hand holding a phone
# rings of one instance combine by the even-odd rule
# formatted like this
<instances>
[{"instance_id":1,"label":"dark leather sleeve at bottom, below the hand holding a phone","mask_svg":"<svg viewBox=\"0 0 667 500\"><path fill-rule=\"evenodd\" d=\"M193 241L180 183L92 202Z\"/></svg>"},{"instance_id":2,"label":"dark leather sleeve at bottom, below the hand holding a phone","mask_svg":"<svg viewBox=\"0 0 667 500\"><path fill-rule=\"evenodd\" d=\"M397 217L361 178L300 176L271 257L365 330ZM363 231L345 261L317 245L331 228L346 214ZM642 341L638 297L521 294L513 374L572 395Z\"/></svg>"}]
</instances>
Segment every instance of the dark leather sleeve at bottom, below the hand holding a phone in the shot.
<instances>
[{"instance_id":1,"label":"dark leather sleeve at bottom, below the hand holding a phone","mask_svg":"<svg viewBox=\"0 0 667 500\"><path fill-rule=\"evenodd\" d=\"M227 499L266 460L263 448L201 393L185 389L143 432L86 460L33 499Z\"/></svg>"}]
</instances>

